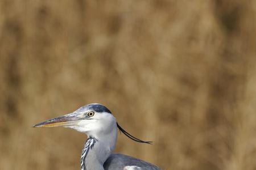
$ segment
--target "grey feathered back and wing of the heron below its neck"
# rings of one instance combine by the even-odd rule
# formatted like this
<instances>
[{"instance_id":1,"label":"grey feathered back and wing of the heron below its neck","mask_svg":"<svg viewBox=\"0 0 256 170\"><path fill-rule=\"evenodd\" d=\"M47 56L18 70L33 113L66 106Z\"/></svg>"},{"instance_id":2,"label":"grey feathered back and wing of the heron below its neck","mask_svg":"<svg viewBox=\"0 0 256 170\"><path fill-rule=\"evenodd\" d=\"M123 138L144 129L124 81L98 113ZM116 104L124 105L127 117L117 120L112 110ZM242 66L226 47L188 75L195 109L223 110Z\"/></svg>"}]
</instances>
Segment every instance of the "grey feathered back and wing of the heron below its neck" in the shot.
<instances>
[{"instance_id":1,"label":"grey feathered back and wing of the heron below its neck","mask_svg":"<svg viewBox=\"0 0 256 170\"><path fill-rule=\"evenodd\" d=\"M105 170L160 170L159 167L143 160L123 154L112 154L104 163Z\"/></svg>"}]
</instances>

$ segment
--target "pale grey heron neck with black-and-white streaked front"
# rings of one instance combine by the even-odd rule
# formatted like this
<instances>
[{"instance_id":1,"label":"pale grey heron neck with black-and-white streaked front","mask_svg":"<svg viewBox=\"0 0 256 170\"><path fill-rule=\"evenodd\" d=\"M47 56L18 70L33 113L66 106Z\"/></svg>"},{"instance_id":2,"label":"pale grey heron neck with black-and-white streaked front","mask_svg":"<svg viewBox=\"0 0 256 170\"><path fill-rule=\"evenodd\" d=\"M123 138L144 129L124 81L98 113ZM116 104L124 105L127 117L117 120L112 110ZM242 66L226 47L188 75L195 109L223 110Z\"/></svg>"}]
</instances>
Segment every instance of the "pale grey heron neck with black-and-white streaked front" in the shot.
<instances>
[{"instance_id":1,"label":"pale grey heron neck with black-and-white streaked front","mask_svg":"<svg viewBox=\"0 0 256 170\"><path fill-rule=\"evenodd\" d=\"M88 135L82 148L81 170L104 170L103 164L112 154L117 140L116 128L108 134Z\"/></svg>"}]
</instances>

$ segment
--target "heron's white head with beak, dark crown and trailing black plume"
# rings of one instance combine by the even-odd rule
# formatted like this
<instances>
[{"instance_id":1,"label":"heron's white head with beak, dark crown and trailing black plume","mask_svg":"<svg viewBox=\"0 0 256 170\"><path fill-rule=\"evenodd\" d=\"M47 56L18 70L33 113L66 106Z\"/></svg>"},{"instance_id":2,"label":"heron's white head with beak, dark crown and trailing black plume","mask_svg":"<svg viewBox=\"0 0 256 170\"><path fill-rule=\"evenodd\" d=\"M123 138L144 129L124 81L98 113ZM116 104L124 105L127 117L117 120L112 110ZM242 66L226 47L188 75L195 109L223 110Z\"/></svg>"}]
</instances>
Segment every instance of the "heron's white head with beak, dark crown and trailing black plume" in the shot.
<instances>
[{"instance_id":1,"label":"heron's white head with beak, dark crown and trailing black plume","mask_svg":"<svg viewBox=\"0 0 256 170\"><path fill-rule=\"evenodd\" d=\"M33 127L58 127L62 126L65 128L72 128L87 135L93 134L108 134L113 131L113 129L119 129L123 134L125 134L130 139L136 142L148 143L151 142L142 141L141 139L133 137L133 135L127 133L118 123L115 121L115 117L102 104L88 104L73 113L65 114L63 116L51 118L47 121L40 122Z\"/></svg>"}]
</instances>

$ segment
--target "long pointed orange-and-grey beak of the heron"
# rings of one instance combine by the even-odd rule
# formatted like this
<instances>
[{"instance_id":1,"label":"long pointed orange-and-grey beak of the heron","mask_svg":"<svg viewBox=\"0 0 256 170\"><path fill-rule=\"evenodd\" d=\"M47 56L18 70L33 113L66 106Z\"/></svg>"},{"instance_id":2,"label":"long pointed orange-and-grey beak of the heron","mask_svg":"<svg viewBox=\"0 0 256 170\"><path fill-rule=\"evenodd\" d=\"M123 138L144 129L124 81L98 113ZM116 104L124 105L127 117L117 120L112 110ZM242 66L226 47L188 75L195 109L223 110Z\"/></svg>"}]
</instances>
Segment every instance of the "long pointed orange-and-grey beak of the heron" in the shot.
<instances>
[{"instance_id":1,"label":"long pointed orange-and-grey beak of the heron","mask_svg":"<svg viewBox=\"0 0 256 170\"><path fill-rule=\"evenodd\" d=\"M65 114L64 116L51 118L47 121L40 122L32 126L33 128L37 127L58 127L58 126L72 126L75 125L76 121L81 120L81 117L77 116L77 114L70 113Z\"/></svg>"}]
</instances>

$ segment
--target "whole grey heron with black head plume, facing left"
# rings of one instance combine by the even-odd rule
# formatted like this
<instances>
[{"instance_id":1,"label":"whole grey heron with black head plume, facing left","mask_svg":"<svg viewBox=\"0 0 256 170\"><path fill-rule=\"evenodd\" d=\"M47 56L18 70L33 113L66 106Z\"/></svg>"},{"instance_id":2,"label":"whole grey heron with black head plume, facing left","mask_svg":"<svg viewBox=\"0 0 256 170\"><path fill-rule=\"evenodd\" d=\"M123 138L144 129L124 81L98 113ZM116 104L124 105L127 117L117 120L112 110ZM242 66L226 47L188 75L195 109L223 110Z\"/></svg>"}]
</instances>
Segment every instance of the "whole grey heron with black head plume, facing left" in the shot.
<instances>
[{"instance_id":1,"label":"whole grey heron with black head plume, facing left","mask_svg":"<svg viewBox=\"0 0 256 170\"><path fill-rule=\"evenodd\" d=\"M113 114L101 104L88 104L73 113L65 114L33 127L72 128L85 133L88 138L82 148L81 170L159 170L151 163L123 154L114 154L117 128L133 141L142 141L121 128Z\"/></svg>"}]
</instances>

